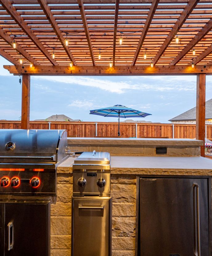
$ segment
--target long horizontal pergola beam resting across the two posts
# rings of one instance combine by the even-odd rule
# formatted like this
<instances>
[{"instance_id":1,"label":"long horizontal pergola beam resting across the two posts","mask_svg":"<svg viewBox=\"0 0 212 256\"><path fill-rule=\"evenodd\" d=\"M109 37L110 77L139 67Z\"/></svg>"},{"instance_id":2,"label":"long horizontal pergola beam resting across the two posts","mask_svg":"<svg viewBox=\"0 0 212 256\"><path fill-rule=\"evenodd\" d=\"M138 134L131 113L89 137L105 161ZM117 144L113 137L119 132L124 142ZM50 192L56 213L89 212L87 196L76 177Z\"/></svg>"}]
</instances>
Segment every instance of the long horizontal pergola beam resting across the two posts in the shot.
<instances>
[{"instance_id":1,"label":"long horizontal pergola beam resting across the two posts","mask_svg":"<svg viewBox=\"0 0 212 256\"><path fill-rule=\"evenodd\" d=\"M130 75L194 75L206 73L212 75L212 65L156 65L151 68L149 65L116 65L109 68L108 65L82 65L69 67L67 65L48 66L13 66L4 65L11 74L30 74L30 75L76 75L76 76L130 76Z\"/></svg>"}]
</instances>

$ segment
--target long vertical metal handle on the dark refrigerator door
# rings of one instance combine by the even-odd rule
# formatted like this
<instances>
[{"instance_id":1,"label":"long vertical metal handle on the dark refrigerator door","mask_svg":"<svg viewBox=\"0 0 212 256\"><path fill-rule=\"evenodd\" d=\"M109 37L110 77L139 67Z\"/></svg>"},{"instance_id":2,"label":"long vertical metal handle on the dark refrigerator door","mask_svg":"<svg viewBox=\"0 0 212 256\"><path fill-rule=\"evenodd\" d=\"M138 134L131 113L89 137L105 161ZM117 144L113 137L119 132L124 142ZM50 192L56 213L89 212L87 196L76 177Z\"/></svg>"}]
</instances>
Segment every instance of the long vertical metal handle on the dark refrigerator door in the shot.
<instances>
[{"instance_id":1,"label":"long vertical metal handle on the dark refrigerator door","mask_svg":"<svg viewBox=\"0 0 212 256\"><path fill-rule=\"evenodd\" d=\"M200 252L200 210L199 210L199 185L198 184L194 184L194 188L196 188L196 205L197 205L197 209L194 209L194 216L195 216L195 241L196 238L198 240L198 256L201 256L201 252ZM197 215L196 215L196 211L197 211ZM197 226L197 229L196 229ZM197 230L197 232L196 232ZM196 244L196 242L195 242ZM197 251L197 250L196 250Z\"/></svg>"}]
</instances>

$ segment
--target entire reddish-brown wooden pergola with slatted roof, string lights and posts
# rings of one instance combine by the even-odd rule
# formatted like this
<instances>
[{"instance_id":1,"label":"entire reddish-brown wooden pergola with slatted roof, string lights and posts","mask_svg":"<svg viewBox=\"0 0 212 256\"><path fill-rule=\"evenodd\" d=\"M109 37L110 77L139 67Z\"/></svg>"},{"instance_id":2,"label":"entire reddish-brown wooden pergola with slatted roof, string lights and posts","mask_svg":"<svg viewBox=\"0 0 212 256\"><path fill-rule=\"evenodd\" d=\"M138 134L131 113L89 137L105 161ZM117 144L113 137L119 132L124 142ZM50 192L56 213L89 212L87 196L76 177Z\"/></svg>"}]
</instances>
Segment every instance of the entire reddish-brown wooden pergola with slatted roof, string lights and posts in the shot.
<instances>
[{"instance_id":1,"label":"entire reddish-brown wooden pergola with slatted roof, string lights and posts","mask_svg":"<svg viewBox=\"0 0 212 256\"><path fill-rule=\"evenodd\" d=\"M0 4L0 55L14 64L4 68L22 75L23 129L29 129L31 75L197 75L196 138L204 140L206 74L212 74L212 1Z\"/></svg>"}]
</instances>

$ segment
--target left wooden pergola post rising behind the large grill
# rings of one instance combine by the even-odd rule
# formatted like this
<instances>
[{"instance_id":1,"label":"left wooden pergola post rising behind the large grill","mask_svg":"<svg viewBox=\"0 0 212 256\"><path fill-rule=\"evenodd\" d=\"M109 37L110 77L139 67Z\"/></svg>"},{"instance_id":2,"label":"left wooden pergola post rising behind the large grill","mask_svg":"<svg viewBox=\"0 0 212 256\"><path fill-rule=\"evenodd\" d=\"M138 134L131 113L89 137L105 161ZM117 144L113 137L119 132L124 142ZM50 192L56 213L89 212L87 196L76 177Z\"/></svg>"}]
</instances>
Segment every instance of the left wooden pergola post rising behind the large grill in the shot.
<instances>
[{"instance_id":1,"label":"left wooden pergola post rising behind the large grill","mask_svg":"<svg viewBox=\"0 0 212 256\"><path fill-rule=\"evenodd\" d=\"M30 75L22 75L21 129L30 129Z\"/></svg>"}]
</instances>

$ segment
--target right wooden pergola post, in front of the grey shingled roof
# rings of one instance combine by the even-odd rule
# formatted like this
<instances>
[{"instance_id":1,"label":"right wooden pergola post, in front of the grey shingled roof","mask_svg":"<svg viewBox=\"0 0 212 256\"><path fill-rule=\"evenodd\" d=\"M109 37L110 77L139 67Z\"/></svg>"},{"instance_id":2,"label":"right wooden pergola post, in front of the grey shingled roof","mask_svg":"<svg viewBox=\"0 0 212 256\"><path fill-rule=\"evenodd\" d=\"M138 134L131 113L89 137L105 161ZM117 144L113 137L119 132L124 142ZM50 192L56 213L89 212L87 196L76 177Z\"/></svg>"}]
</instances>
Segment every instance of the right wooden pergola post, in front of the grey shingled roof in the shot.
<instances>
[{"instance_id":1,"label":"right wooden pergola post, in front of the grey shingled roof","mask_svg":"<svg viewBox=\"0 0 212 256\"><path fill-rule=\"evenodd\" d=\"M197 75L196 139L203 140L201 156L205 157L205 94L206 74Z\"/></svg>"}]
</instances>

